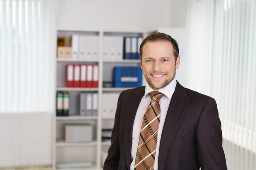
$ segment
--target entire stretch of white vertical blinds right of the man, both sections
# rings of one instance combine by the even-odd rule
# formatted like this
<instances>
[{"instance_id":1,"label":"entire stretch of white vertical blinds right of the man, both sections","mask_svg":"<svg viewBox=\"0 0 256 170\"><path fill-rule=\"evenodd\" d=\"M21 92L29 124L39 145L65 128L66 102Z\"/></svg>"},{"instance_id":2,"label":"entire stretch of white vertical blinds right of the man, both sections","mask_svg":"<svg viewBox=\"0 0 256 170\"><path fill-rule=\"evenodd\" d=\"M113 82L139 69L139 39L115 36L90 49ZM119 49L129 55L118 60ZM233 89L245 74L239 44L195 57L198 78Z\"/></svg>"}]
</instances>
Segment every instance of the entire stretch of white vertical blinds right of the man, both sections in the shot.
<instances>
[{"instance_id":1,"label":"entire stretch of white vertical blinds right of the man, both sections","mask_svg":"<svg viewBox=\"0 0 256 170\"><path fill-rule=\"evenodd\" d=\"M255 170L256 0L188 4L188 87L217 102L228 169Z\"/></svg>"}]
</instances>

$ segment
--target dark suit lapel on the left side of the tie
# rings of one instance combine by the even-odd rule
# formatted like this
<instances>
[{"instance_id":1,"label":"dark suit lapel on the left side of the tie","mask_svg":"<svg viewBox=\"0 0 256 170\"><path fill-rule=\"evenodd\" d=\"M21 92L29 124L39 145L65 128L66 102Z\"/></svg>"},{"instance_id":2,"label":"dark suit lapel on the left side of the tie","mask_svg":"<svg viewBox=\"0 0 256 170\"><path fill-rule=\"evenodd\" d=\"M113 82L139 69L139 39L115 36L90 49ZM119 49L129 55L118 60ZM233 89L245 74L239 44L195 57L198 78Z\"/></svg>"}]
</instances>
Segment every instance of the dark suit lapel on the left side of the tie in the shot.
<instances>
[{"instance_id":1,"label":"dark suit lapel on the left side of the tie","mask_svg":"<svg viewBox=\"0 0 256 170\"><path fill-rule=\"evenodd\" d=\"M140 105L141 98L144 96L145 86L141 88L136 88L134 93L131 94L128 103L126 105L125 111L125 123L124 123L124 152L125 161L128 170L131 165L131 145L132 145L132 129L134 125L134 119L137 113L137 109Z\"/></svg>"}]
</instances>

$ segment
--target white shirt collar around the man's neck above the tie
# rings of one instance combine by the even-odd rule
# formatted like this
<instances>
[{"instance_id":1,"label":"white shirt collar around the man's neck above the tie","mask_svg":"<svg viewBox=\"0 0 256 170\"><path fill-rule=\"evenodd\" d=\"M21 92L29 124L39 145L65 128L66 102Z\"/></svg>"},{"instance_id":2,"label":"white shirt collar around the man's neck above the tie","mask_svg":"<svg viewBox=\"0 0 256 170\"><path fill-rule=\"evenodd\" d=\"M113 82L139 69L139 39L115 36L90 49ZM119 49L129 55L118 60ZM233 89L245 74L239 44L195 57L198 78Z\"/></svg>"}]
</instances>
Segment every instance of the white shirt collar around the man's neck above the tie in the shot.
<instances>
[{"instance_id":1,"label":"white shirt collar around the man's neck above the tie","mask_svg":"<svg viewBox=\"0 0 256 170\"><path fill-rule=\"evenodd\" d=\"M177 82L176 82L176 79L174 78L172 80L172 82L169 83L169 85L167 85L164 88L158 89L158 91L160 93L164 94L165 96L167 96L169 99L171 99L172 94L175 91L176 84L177 84ZM154 91L154 90L148 85L148 83L146 83L144 97L146 98L146 96L148 96L148 93L151 92L151 91Z\"/></svg>"}]
</instances>

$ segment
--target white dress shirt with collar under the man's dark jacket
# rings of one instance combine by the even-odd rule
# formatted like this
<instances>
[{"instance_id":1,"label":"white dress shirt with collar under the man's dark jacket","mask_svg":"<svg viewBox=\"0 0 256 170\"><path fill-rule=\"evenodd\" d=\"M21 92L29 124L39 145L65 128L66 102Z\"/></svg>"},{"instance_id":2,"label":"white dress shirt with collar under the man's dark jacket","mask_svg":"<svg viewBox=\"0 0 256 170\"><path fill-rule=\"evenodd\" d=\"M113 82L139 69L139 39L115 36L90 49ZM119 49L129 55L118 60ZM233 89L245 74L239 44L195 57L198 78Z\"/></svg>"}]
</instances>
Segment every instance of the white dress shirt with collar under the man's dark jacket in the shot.
<instances>
[{"instance_id":1,"label":"white dress shirt with collar under the man's dark jacket","mask_svg":"<svg viewBox=\"0 0 256 170\"><path fill-rule=\"evenodd\" d=\"M169 108L172 94L175 91L176 84L177 84L176 79L173 79L172 82L169 83L169 85L167 85L164 88L158 89L158 91L163 93L165 96L163 96L162 99L160 99L159 101L161 115L160 115L160 123L159 123L158 136L157 136L157 148L156 148L156 155L155 155L155 162L154 162L154 170L158 170L158 153L159 153L161 134L162 134L163 125L166 119L166 113ZM131 162L130 170L134 170L137 147L140 139L141 125L142 125L145 111L148 108L148 105L151 101L148 95L148 93L151 91L154 91L154 90L148 86L148 83L146 83L145 94L140 101L140 105L134 119L134 126L133 126L133 132L132 132L132 146L131 146L131 159L133 161Z\"/></svg>"}]
</instances>

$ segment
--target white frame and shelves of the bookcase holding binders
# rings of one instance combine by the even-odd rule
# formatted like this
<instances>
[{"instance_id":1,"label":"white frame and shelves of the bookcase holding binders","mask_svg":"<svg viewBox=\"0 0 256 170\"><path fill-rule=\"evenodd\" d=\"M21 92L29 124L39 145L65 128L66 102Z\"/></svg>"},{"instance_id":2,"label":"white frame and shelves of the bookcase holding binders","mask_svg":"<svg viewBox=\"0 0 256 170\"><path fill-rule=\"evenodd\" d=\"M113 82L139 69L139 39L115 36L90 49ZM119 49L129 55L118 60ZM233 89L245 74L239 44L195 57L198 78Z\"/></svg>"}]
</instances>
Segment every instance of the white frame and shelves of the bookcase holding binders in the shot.
<instances>
[{"instance_id":1,"label":"white frame and shelves of the bookcase holding binders","mask_svg":"<svg viewBox=\"0 0 256 170\"><path fill-rule=\"evenodd\" d=\"M102 170L102 158L101 158L101 153L102 153L102 148L104 147L105 150L110 146L111 142L102 142L102 122L104 121L112 121L114 120L114 117L102 117L102 94L103 93L113 93L113 92L122 92L128 88L103 88L103 74L104 74L104 65L107 68L109 65L140 65L140 60L128 60L128 59L123 59L121 61L106 61L103 60L103 37L105 34L107 35L123 35L123 36L137 36L137 35L142 35L144 38L151 32L147 33L147 31L142 31L142 30L86 30L86 29L70 29L70 28L56 28L56 35L58 35L59 31L62 34L67 33L68 35L70 34L82 34L82 33L92 33L92 34L98 34L100 41L99 41L99 60L81 60L81 59L58 59L56 58L56 70L58 68L58 63L97 63L99 65L99 88L66 88L66 87L57 87L56 83L56 89L55 89L55 94L54 97L56 97L56 92L57 91L70 91L70 92L80 92L80 91L95 91L98 93L98 116L92 116L92 117L80 117L80 116L67 116L67 117L57 117L55 116L56 113L53 115L53 170L56 170L56 163L58 162L58 156L60 156L60 153L58 152L58 149L60 148L66 148L68 147L69 150L72 150L72 148L80 148L80 147L85 147L90 150L95 150L96 156L95 156L95 167L93 168L88 168L88 169L65 169L65 170ZM56 37L57 39L57 37ZM56 76L57 73L56 73ZM56 78L57 82L57 78ZM145 85L145 79L143 79L143 85ZM55 99L56 101L56 99ZM96 141L94 142L88 142L88 143L66 143L64 141L57 141L57 130L58 130L58 122L74 122L74 121L94 121L96 125ZM56 127L57 126L57 127ZM91 148L93 147L93 149ZM74 149L75 150L75 149ZM66 152L66 150L65 150ZM65 153L63 151L63 154ZM74 151L75 152L75 151ZM84 154L87 154L85 152ZM62 156L62 155L61 155ZM63 156L63 160L66 159L65 156ZM90 155L88 155L90 157Z\"/></svg>"}]
</instances>

